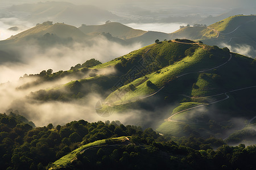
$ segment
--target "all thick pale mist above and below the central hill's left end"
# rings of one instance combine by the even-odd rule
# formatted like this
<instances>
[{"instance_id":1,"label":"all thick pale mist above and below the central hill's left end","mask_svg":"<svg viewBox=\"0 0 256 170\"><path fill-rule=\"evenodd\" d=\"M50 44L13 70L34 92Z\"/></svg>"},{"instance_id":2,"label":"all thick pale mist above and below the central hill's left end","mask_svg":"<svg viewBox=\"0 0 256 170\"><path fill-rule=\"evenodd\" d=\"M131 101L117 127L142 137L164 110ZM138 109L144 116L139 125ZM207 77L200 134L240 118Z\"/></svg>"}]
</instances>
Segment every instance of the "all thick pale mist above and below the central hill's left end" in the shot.
<instances>
[{"instance_id":1,"label":"all thick pale mist above and below the central hill's left end","mask_svg":"<svg viewBox=\"0 0 256 170\"><path fill-rule=\"evenodd\" d=\"M120 45L117 42L108 41L105 37L92 39L93 45L86 46L74 43L72 47L58 45L42 50L39 45L23 46L19 54L22 54L22 63L5 63L0 65L0 113L7 109L18 109L19 113L33 121L36 126L44 126L52 122L65 124L74 120L121 120L125 122L126 116L102 118L95 112L95 105L101 97L98 94L90 94L79 101L69 103L61 101L36 101L29 97L30 92L40 89L47 89L57 84L68 83L76 80L72 76L64 77L53 82L38 84L30 88L18 90L22 84L33 82L36 77L20 79L24 74L38 74L42 70L53 69L69 70L77 63L84 63L86 60L95 58L102 63L111 59L123 56L132 50L141 48L141 44ZM113 70L99 70L97 74L110 74Z\"/></svg>"}]
</instances>

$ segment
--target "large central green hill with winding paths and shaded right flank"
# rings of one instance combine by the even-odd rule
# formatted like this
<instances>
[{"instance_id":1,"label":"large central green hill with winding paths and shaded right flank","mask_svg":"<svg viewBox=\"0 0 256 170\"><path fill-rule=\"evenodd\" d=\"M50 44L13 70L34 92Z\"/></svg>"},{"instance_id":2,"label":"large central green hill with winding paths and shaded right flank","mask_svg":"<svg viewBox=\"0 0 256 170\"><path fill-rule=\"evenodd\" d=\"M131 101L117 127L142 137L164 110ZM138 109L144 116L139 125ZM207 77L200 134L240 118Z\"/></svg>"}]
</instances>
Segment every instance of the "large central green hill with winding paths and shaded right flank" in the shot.
<instances>
[{"instance_id":1,"label":"large central green hill with winding paths and shaded right flank","mask_svg":"<svg viewBox=\"0 0 256 170\"><path fill-rule=\"evenodd\" d=\"M89 67L87 78L34 92L30 99L88 100L86 96L96 92L105 98L96 104L100 116L138 110L142 118L132 121L160 133L185 135L183 129L189 127L205 137L224 138L225 131L243 127L234 119L255 116L255 68L255 59L228 48L162 41ZM82 69L72 73L82 74ZM117 72L106 75L109 69Z\"/></svg>"}]
</instances>

